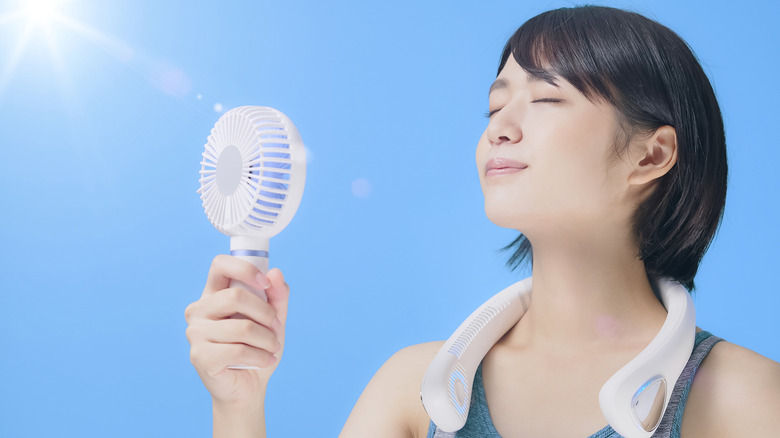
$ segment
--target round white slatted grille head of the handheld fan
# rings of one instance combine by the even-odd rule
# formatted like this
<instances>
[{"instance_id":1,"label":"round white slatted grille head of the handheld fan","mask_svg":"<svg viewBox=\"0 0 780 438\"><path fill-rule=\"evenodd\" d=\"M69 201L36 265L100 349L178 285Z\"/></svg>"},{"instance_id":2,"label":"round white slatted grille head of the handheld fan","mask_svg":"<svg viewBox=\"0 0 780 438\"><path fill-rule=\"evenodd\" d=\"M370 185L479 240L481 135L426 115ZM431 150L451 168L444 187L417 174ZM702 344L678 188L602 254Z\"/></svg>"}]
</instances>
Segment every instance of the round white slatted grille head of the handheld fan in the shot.
<instances>
[{"instance_id":1,"label":"round white slatted grille head of the handheld fan","mask_svg":"<svg viewBox=\"0 0 780 438\"><path fill-rule=\"evenodd\" d=\"M258 234L280 221L290 200L294 159L295 139L285 123L288 120L273 108L239 107L220 117L211 130L198 192L206 216L221 232ZM231 146L238 149L241 161L235 169L225 170L230 164L220 158ZM218 177L227 171L241 172L240 181L229 190Z\"/></svg>"}]
</instances>

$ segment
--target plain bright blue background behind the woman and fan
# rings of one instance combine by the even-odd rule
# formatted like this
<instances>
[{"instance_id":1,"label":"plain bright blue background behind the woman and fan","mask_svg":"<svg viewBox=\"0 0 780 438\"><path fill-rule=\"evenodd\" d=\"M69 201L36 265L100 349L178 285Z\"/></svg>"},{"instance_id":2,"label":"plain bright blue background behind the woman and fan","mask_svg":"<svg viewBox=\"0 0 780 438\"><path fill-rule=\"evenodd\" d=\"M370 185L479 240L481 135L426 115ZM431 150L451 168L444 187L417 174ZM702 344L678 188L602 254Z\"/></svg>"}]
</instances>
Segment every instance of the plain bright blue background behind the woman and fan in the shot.
<instances>
[{"instance_id":1,"label":"plain bright blue background behind the woman and fan","mask_svg":"<svg viewBox=\"0 0 780 438\"><path fill-rule=\"evenodd\" d=\"M725 218L698 324L780 359L776 2L614 1L677 31L725 116ZM270 436L336 436L398 349L445 339L524 277L474 148L506 39L561 1L71 0L0 10L0 436L211 434L185 307L228 238L198 170L220 113L284 111L306 193L271 242L292 286ZM219 105L218 105L219 104Z\"/></svg>"}]
</instances>

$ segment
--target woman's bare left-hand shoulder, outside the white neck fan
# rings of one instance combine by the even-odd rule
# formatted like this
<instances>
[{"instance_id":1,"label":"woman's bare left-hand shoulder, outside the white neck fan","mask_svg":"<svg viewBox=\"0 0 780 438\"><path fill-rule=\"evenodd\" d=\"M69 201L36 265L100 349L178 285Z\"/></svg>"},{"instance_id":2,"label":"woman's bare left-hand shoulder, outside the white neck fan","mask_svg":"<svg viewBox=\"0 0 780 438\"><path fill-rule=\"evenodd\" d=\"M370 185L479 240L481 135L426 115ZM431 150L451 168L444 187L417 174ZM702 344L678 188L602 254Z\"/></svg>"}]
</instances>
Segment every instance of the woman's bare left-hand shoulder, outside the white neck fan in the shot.
<instances>
[{"instance_id":1,"label":"woman's bare left-hand shoulder, outside the white neck fan","mask_svg":"<svg viewBox=\"0 0 780 438\"><path fill-rule=\"evenodd\" d=\"M424 437L430 419L420 386L443 344L426 342L393 354L366 386L340 436Z\"/></svg>"}]
</instances>

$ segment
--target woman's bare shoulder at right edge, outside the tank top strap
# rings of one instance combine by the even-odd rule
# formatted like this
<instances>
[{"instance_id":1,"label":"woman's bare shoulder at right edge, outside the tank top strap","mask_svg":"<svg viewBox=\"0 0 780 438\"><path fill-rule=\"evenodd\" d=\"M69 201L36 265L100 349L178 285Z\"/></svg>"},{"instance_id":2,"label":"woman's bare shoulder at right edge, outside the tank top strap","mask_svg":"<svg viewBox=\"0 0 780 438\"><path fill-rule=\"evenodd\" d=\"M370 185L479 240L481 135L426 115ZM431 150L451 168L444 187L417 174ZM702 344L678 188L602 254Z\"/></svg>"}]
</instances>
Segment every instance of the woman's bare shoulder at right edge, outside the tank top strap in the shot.
<instances>
[{"instance_id":1,"label":"woman's bare shoulder at right edge, outside the tank top strap","mask_svg":"<svg viewBox=\"0 0 780 438\"><path fill-rule=\"evenodd\" d=\"M780 428L778 412L780 364L721 341L696 371L682 436L773 436Z\"/></svg>"}]
</instances>

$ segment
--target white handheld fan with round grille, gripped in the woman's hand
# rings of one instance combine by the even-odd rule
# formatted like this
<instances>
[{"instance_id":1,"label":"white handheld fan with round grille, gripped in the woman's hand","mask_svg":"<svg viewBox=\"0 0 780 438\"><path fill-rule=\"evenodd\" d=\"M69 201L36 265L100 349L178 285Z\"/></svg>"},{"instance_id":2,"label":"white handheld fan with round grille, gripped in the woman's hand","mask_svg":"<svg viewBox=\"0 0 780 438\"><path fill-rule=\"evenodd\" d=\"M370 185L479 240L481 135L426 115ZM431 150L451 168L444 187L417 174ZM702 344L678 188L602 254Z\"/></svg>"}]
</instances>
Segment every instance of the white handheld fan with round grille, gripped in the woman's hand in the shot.
<instances>
[{"instance_id":1,"label":"white handheld fan with round grille, gripped in the woman's hand","mask_svg":"<svg viewBox=\"0 0 780 438\"><path fill-rule=\"evenodd\" d=\"M205 148L198 193L206 216L230 236L230 255L267 272L269 240L290 223L303 196L306 152L301 136L281 111L242 106L219 118ZM244 283L232 281L230 286L266 299L264 291Z\"/></svg>"}]
</instances>

